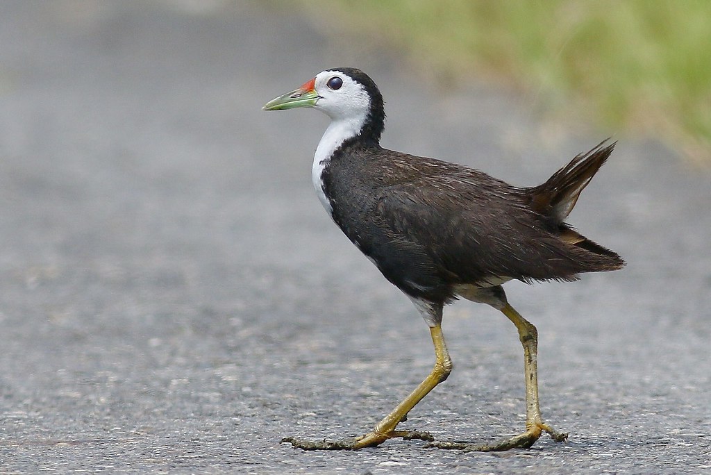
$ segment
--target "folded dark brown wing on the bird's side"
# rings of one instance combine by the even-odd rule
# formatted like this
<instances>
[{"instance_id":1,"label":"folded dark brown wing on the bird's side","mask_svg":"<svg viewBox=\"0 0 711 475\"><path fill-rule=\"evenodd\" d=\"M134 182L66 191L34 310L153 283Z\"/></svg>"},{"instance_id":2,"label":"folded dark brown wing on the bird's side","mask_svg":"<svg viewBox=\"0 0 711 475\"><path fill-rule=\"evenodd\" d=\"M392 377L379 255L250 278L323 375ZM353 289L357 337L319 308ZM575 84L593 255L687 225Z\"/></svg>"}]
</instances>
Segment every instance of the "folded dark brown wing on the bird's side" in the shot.
<instances>
[{"instance_id":1,"label":"folded dark brown wing on the bird's side","mask_svg":"<svg viewBox=\"0 0 711 475\"><path fill-rule=\"evenodd\" d=\"M531 207L530 188L439 161L416 168L417 178L378 190L377 212L393 235L427 253L452 283L571 280L610 269L579 245L584 237Z\"/></svg>"}]
</instances>

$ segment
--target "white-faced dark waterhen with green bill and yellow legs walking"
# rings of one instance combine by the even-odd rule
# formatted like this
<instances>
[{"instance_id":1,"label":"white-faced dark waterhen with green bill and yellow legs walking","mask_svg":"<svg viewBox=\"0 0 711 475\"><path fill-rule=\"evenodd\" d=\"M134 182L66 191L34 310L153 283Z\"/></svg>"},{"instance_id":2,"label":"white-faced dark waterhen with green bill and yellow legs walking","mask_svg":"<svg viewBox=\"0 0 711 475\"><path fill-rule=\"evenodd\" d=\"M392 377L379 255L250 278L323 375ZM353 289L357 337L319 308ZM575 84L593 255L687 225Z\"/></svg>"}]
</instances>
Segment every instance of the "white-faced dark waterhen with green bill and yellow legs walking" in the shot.
<instances>
[{"instance_id":1,"label":"white-faced dark waterhen with green bill and yellow legs walking","mask_svg":"<svg viewBox=\"0 0 711 475\"><path fill-rule=\"evenodd\" d=\"M311 107L331 118L316 147L311 178L321 204L385 279L410 298L429 327L432 371L392 412L360 437L284 437L304 450L358 450L387 439L424 439L429 447L465 451L528 449L546 432L567 434L542 420L538 399L538 331L508 303L502 285L572 281L584 272L624 267L616 252L565 223L582 190L616 142L609 139L556 171L545 183L512 186L467 166L384 149L383 95L357 68L321 71L263 110ZM526 422L494 442L438 442L397 425L452 370L442 333L444 306L459 298L501 311L523 346Z\"/></svg>"}]
</instances>

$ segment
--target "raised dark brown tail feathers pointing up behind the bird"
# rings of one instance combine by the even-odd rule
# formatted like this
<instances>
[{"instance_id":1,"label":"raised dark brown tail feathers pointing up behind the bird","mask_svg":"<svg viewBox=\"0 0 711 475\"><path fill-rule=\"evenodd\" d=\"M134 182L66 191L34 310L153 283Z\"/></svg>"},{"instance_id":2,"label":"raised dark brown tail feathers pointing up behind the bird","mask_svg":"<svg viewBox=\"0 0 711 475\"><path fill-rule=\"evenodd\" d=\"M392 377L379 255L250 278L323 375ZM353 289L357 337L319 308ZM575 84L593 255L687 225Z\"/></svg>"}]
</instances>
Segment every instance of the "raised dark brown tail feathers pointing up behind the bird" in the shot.
<instances>
[{"instance_id":1,"label":"raised dark brown tail feathers pointing up behind the bird","mask_svg":"<svg viewBox=\"0 0 711 475\"><path fill-rule=\"evenodd\" d=\"M530 188L533 210L562 223L577 203L580 193L615 148L617 142L604 145L608 140L604 140L586 154L576 156L542 185Z\"/></svg>"}]
</instances>

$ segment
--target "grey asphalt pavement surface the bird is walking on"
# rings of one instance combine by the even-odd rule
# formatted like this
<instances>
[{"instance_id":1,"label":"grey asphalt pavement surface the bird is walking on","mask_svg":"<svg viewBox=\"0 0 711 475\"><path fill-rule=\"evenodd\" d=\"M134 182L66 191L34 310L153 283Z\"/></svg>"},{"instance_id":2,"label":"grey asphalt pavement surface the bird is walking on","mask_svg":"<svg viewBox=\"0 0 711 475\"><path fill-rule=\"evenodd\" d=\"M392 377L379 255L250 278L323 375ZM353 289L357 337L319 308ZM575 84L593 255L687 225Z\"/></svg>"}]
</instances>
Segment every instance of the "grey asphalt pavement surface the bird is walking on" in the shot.
<instances>
[{"instance_id":1,"label":"grey asphalt pavement surface the bird is walking on","mask_svg":"<svg viewBox=\"0 0 711 475\"><path fill-rule=\"evenodd\" d=\"M711 473L711 174L624 138L570 221L628 267L507 286L565 444L279 444L370 429L433 351L314 196L326 117L264 102L358 66L385 95L385 146L521 185L605 134L356 43L252 3L0 3L0 473ZM444 331L454 373L402 426L521 429L513 326L460 302Z\"/></svg>"}]
</instances>

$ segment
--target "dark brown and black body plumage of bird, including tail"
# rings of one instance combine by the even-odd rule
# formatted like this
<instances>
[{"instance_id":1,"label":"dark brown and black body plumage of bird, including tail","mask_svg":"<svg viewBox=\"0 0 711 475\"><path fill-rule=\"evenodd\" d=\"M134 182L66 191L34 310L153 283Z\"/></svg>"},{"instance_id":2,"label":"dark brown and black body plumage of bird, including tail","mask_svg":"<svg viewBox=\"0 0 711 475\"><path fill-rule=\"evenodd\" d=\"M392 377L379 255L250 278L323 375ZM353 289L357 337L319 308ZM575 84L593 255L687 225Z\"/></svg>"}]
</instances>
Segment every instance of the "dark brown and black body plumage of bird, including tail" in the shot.
<instances>
[{"instance_id":1,"label":"dark brown and black body plumage of bird, including tail","mask_svg":"<svg viewBox=\"0 0 711 475\"><path fill-rule=\"evenodd\" d=\"M324 190L343 233L412 297L445 303L456 285L572 280L624 265L563 222L614 144L577 156L532 188L373 147L344 143L331 156Z\"/></svg>"}]
</instances>

